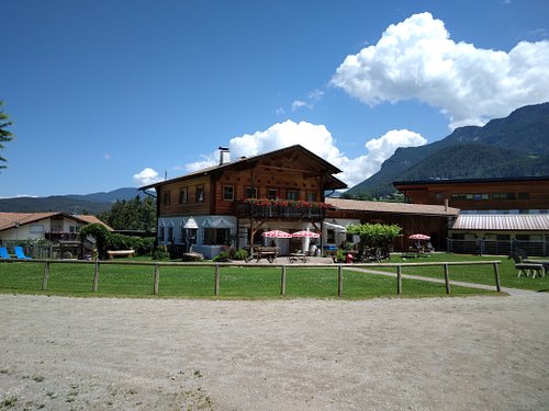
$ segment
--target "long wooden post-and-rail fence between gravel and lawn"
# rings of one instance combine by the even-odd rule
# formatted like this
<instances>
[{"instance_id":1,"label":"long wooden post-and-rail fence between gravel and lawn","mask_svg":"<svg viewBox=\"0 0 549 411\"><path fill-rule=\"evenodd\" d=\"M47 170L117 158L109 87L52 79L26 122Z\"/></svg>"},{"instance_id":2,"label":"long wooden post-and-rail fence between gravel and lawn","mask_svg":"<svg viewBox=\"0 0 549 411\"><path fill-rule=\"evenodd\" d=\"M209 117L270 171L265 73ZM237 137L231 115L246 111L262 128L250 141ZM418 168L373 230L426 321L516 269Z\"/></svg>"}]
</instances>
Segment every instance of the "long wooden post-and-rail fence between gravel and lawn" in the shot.
<instances>
[{"instance_id":1,"label":"long wooden post-and-rail fence between gravel and lawn","mask_svg":"<svg viewBox=\"0 0 549 411\"><path fill-rule=\"evenodd\" d=\"M44 264L44 275L42 277L42 290L47 290L47 282L49 278L49 269L52 264L89 264L93 266L93 282L91 292L97 293L99 289L99 273L101 265L133 265L133 266L150 266L154 267L154 284L153 293L158 295L158 287L160 283L160 267L166 266L200 266L200 267L212 267L213 269L213 295L220 296L220 285L221 285L221 274L223 267L280 267L280 295L285 296L285 276L287 276L287 264L254 264L249 265L244 262L231 262L231 263L178 263L178 262L142 262L142 261L85 261L85 260L7 260L0 259L0 263L25 263L25 264ZM303 267L303 269L335 269L337 270L337 296L341 297L344 292L344 269L396 269L396 295L402 295L402 270L403 267L412 266L440 266L444 270L444 279L446 286L446 294L450 294L450 275L449 267L456 265L492 265L494 269L494 285L496 292L501 292L500 283L500 265L501 261L463 261L463 262L440 262L440 263L365 263L365 264L291 264L291 267ZM418 281L421 281L418 278Z\"/></svg>"}]
</instances>

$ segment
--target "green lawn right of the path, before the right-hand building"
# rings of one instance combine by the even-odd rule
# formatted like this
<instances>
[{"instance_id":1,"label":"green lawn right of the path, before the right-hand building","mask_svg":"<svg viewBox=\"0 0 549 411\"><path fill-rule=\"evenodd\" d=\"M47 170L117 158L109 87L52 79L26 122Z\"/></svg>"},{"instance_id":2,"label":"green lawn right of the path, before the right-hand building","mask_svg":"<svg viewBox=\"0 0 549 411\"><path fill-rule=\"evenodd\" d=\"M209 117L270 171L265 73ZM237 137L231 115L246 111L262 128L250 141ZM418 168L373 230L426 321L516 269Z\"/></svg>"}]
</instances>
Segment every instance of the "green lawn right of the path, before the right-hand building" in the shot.
<instances>
[{"instance_id":1,"label":"green lawn right of the path, before the right-hand building","mask_svg":"<svg viewBox=\"0 0 549 411\"><path fill-rule=\"evenodd\" d=\"M508 260L506 255L466 255L466 254L446 254L434 253L429 256L407 258L403 259L397 254L393 254L388 263L423 263L423 262L461 262L461 261L501 261L500 264L500 282L502 287L522 288L530 290L548 290L549 289L549 273L545 277L517 277L515 262ZM380 269L385 270L385 269ZM395 269L386 269L391 272L396 272ZM461 281L468 283L494 285L494 269L492 265L461 265L448 269L450 281ZM410 266L402 269L403 274L422 275L425 277L444 278L444 269L440 266Z\"/></svg>"}]
</instances>

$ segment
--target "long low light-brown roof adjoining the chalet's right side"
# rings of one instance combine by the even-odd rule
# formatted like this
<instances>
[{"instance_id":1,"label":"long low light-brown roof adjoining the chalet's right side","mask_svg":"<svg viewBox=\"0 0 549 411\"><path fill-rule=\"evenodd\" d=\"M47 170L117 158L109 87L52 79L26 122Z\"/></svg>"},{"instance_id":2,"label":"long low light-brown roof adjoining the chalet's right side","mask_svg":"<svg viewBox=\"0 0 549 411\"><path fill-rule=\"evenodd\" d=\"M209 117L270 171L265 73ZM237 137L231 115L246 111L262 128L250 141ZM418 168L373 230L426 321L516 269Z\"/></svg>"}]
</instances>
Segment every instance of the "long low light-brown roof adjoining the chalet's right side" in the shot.
<instances>
[{"instance_id":1,"label":"long low light-brown roof adjoining the chalet's right side","mask_svg":"<svg viewBox=\"0 0 549 411\"><path fill-rule=\"evenodd\" d=\"M459 214L458 208L440 205L407 204L407 203L384 203L367 202L361 199L326 198L326 203L332 204L336 209L351 212L391 213L391 214L414 214L425 216L455 217Z\"/></svg>"}]
</instances>

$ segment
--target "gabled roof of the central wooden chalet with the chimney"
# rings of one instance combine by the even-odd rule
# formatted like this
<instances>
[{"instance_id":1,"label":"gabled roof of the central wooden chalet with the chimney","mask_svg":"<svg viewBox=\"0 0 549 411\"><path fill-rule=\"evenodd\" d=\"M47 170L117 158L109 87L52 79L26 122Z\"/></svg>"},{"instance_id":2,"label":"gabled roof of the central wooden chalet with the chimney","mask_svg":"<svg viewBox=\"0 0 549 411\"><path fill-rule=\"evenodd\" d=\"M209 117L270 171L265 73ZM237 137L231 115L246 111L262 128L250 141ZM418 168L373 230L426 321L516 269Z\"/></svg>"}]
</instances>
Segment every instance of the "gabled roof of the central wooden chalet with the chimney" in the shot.
<instances>
[{"instance_id":1,"label":"gabled roof of the central wooden chalet with the chimney","mask_svg":"<svg viewBox=\"0 0 549 411\"><path fill-rule=\"evenodd\" d=\"M167 183L173 183L173 182L178 182L178 181L194 179L194 178L202 176L202 175L210 175L210 174L223 171L225 169L231 169L231 168L239 168L239 169L251 168L251 167L254 167L255 163L257 163L260 160L268 159L269 157L284 155L284 153L288 153L291 151L299 151L299 152L310 157L313 161L320 163L322 165L322 168L324 168L326 170L326 173L328 174L326 180L330 183L330 185L333 186L333 190L347 189L347 184L345 184L343 181L340 181L340 180L336 179L334 175L332 175L332 174L340 173L341 170L339 170L334 164L327 162L323 158L316 156L314 152L307 150L303 146L294 145L294 146L284 147L284 148L281 148L281 149L278 149L274 151L265 152L265 153L258 155L258 156L239 158L238 160L226 162L226 163L223 163L220 165L209 167L209 168L198 170L198 171L194 171L192 173L184 174L184 175L181 175L181 176L178 176L175 179L160 181L160 182L157 182L154 184L144 185L144 186L139 187L139 190L144 191L144 190L155 189L157 186L160 186L160 185L164 185Z\"/></svg>"}]
</instances>

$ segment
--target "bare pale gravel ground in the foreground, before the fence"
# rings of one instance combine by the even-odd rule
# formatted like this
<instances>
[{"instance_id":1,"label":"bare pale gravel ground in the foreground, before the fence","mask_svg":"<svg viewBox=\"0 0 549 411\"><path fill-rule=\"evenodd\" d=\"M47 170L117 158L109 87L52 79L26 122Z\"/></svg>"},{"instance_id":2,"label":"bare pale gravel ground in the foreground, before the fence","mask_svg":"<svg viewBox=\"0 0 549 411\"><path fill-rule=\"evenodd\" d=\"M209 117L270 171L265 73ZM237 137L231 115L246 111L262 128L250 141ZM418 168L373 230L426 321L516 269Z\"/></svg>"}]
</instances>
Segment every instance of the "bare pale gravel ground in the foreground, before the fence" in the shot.
<instances>
[{"instance_id":1,"label":"bare pale gravel ground in the foreground, before the fence","mask_svg":"<svg viewBox=\"0 0 549 411\"><path fill-rule=\"evenodd\" d=\"M541 410L549 295L0 295L0 409Z\"/></svg>"}]
</instances>

